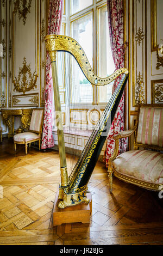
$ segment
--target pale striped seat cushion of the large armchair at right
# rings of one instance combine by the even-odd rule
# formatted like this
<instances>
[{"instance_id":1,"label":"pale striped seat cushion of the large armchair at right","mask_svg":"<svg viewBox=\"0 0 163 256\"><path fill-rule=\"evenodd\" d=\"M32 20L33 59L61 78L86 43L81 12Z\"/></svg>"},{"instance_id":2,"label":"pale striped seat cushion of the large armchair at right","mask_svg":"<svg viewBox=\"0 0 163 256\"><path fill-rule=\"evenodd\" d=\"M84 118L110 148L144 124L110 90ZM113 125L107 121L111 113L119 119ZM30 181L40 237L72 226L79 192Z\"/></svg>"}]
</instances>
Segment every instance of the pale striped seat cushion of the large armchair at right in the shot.
<instances>
[{"instance_id":1,"label":"pale striped seat cushion of the large armchair at right","mask_svg":"<svg viewBox=\"0 0 163 256\"><path fill-rule=\"evenodd\" d=\"M131 178L163 184L163 154L152 150L131 150L113 161L114 169Z\"/></svg>"}]
</instances>

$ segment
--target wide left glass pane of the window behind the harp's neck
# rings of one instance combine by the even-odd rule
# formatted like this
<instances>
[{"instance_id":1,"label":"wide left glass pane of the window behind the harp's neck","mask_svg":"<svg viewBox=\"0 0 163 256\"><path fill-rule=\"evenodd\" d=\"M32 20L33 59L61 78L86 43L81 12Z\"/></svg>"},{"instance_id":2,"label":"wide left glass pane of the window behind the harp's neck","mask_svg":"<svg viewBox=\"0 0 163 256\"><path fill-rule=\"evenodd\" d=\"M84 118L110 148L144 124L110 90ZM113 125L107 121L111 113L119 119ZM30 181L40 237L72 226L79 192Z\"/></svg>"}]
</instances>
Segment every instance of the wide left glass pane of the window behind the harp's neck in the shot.
<instances>
[{"instance_id":1,"label":"wide left glass pane of the window behind the harp's neck","mask_svg":"<svg viewBox=\"0 0 163 256\"><path fill-rule=\"evenodd\" d=\"M92 13L72 22L72 38L82 46L92 66ZM86 80L74 58L71 58L71 102L92 103L92 85Z\"/></svg>"}]
</instances>

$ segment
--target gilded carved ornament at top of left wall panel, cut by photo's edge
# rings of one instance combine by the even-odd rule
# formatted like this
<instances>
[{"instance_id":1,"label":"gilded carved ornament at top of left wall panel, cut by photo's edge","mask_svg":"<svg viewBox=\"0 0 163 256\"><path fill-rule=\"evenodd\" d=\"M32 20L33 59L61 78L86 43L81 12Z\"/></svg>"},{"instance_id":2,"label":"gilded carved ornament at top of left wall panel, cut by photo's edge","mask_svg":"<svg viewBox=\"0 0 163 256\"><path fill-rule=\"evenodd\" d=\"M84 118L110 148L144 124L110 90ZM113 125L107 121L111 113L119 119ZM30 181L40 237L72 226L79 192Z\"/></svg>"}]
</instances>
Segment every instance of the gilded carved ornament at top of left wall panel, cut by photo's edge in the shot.
<instances>
[{"instance_id":1,"label":"gilded carved ornament at top of left wall panel, cut by photo's edge","mask_svg":"<svg viewBox=\"0 0 163 256\"><path fill-rule=\"evenodd\" d=\"M30 13L32 0L15 0L14 13L18 13L18 19L23 20L23 25L26 25L27 14Z\"/></svg>"}]
</instances>

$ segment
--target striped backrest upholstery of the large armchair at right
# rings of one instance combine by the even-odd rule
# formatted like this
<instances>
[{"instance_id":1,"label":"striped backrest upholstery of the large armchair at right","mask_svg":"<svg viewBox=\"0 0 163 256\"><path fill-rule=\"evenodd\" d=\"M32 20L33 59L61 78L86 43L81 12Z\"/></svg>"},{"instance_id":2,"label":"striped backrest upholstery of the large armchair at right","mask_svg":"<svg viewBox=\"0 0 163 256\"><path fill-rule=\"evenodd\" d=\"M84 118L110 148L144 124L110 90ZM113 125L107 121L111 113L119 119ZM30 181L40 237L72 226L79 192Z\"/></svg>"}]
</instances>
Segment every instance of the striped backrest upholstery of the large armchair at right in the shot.
<instances>
[{"instance_id":1,"label":"striped backrest upholstery of the large armchair at right","mask_svg":"<svg viewBox=\"0 0 163 256\"><path fill-rule=\"evenodd\" d=\"M137 143L163 147L163 109L140 108Z\"/></svg>"}]
</instances>

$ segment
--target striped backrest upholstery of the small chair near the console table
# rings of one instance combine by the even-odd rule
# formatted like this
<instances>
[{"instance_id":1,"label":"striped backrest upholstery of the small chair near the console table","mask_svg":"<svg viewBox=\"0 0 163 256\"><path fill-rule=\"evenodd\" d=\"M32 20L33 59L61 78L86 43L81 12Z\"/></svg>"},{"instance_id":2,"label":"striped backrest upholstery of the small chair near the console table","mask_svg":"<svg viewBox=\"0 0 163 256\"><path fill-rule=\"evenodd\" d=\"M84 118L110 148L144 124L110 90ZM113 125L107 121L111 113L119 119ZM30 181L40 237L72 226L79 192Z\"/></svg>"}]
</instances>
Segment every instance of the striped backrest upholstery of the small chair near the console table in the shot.
<instances>
[{"instance_id":1,"label":"striped backrest upholstery of the small chair near the console table","mask_svg":"<svg viewBox=\"0 0 163 256\"><path fill-rule=\"evenodd\" d=\"M32 118L30 121L30 131L40 132L40 125L42 124L43 109L33 109Z\"/></svg>"}]
</instances>

